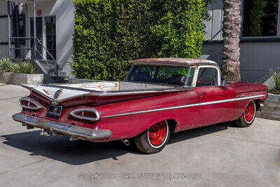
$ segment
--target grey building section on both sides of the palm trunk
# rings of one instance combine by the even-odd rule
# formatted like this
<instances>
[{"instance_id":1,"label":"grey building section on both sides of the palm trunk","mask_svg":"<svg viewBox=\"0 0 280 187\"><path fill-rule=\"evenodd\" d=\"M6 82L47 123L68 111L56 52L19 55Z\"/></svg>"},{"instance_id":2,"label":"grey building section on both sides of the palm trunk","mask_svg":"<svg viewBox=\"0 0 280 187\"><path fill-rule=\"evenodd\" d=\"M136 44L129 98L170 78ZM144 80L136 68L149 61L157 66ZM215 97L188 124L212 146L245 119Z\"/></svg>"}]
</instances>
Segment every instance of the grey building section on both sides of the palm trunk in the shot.
<instances>
[{"instance_id":1,"label":"grey building section on both sides of the palm trunk","mask_svg":"<svg viewBox=\"0 0 280 187\"><path fill-rule=\"evenodd\" d=\"M223 50L223 0L208 6L207 41L202 58L221 65ZM242 81L262 82L269 69L280 67L279 0L241 0L240 74Z\"/></svg>"}]
</instances>

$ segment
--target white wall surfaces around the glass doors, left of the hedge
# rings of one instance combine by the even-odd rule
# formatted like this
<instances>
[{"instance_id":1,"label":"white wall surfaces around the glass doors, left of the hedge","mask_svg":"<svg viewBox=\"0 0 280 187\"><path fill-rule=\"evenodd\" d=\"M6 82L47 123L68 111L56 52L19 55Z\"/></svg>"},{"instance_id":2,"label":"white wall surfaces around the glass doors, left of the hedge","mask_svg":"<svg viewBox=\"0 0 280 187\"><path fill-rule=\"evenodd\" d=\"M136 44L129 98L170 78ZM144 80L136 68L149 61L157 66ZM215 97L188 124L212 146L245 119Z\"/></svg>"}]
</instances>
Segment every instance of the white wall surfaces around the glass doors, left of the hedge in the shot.
<instances>
[{"instance_id":1,"label":"white wall surfaces around the glass doors, left of the hedge","mask_svg":"<svg viewBox=\"0 0 280 187\"><path fill-rule=\"evenodd\" d=\"M56 48L57 62L64 71L71 72L72 37L74 25L74 8L70 0L53 0L36 3L36 10L42 11L43 43L45 45L45 16L56 17ZM25 13L26 34L30 36L30 18L33 18L33 4L26 4L22 13ZM7 1L0 0L0 15L7 15ZM0 42L8 42L8 18L0 18ZM27 44L29 45L29 43ZM22 46L27 47L27 46ZM11 51L13 55L13 50ZM21 50L22 55L29 57L27 50ZM44 53L44 50L43 50ZM44 54L45 55L45 54ZM0 59L8 57L8 45L0 45Z\"/></svg>"}]
</instances>

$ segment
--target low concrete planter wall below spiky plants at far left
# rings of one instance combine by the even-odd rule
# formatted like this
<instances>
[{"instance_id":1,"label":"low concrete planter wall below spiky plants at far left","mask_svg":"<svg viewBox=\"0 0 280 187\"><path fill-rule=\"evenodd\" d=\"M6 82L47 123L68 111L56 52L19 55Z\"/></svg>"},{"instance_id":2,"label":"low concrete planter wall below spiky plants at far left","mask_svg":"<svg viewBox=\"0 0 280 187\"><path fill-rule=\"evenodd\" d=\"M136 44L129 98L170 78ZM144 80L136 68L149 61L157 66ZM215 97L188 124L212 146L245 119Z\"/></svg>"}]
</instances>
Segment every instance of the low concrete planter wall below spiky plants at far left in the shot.
<instances>
[{"instance_id":1,"label":"low concrete planter wall below spiky plants at far left","mask_svg":"<svg viewBox=\"0 0 280 187\"><path fill-rule=\"evenodd\" d=\"M0 83L8 84L43 84L43 74L0 73Z\"/></svg>"}]
</instances>

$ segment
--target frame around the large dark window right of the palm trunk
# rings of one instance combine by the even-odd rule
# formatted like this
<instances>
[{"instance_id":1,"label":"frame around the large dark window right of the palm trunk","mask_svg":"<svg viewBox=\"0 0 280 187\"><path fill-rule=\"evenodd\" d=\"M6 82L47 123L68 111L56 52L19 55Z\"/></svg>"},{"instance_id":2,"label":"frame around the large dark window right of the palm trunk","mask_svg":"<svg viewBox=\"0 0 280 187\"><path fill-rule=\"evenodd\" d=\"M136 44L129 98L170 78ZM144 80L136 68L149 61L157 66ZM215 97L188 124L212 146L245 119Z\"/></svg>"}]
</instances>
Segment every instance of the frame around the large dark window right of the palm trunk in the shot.
<instances>
[{"instance_id":1,"label":"frame around the large dark window right of the palm trunk","mask_svg":"<svg viewBox=\"0 0 280 187\"><path fill-rule=\"evenodd\" d=\"M243 36L243 27L244 27L244 2L241 0L240 13L241 13L241 29L240 29L240 39L276 39L280 38L280 0L278 0L278 18L277 18L277 31L276 36Z\"/></svg>"}]
</instances>

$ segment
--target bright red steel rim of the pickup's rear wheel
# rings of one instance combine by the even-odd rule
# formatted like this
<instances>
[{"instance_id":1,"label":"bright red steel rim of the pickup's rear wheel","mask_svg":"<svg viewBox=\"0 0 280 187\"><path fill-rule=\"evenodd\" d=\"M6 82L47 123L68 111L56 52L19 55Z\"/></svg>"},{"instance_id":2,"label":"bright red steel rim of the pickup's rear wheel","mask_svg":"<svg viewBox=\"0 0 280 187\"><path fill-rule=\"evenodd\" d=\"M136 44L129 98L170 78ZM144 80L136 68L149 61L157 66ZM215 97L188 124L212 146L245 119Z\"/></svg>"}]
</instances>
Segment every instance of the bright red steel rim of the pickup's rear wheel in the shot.
<instances>
[{"instance_id":1,"label":"bright red steel rim of the pickup's rear wheel","mask_svg":"<svg viewBox=\"0 0 280 187\"><path fill-rule=\"evenodd\" d=\"M167 125L162 121L148 129L148 139L152 146L158 146L165 140Z\"/></svg>"}]
</instances>

